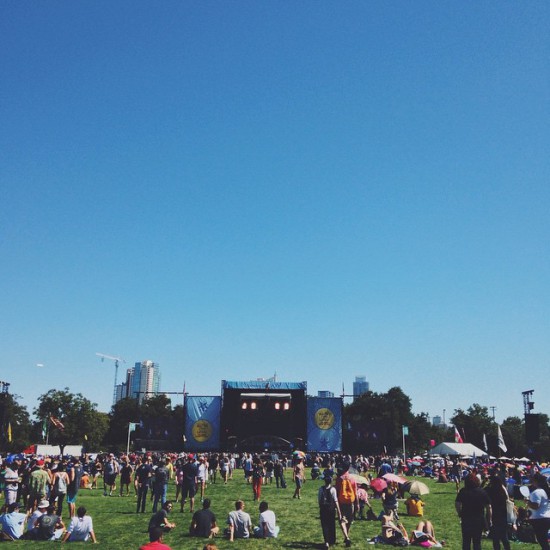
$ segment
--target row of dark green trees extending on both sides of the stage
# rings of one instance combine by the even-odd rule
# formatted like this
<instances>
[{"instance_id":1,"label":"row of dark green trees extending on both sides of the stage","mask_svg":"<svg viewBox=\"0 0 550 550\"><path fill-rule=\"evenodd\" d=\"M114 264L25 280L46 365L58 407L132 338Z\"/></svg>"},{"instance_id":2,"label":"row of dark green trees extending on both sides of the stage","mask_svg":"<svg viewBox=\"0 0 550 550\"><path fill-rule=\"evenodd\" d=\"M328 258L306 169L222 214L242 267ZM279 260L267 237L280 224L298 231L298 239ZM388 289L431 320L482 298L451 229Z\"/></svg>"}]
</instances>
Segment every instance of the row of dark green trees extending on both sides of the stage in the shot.
<instances>
[{"instance_id":1,"label":"row of dark green trees extending on both sides of the stage","mask_svg":"<svg viewBox=\"0 0 550 550\"><path fill-rule=\"evenodd\" d=\"M185 449L182 405L172 407L170 399L156 395L139 403L137 399L123 399L109 413L97 410L82 394L73 394L69 388L51 389L38 398L31 419L26 407L8 393L0 394L0 450L20 452L31 444L82 445L85 450L112 451L126 448L128 425L136 423L132 445ZM550 427L545 414L539 418L539 441L527 445L524 420L512 416L500 425L506 442L506 455L532 458L550 457ZM500 456L497 442L497 424L489 408L474 403L467 410L456 409L449 425L434 426L427 413L412 412L410 398L399 387L385 393L369 391L356 398L343 410L343 447L346 452L362 454L422 454L442 441L454 441L455 427L464 442ZM405 432L405 436L403 435Z\"/></svg>"}]
</instances>

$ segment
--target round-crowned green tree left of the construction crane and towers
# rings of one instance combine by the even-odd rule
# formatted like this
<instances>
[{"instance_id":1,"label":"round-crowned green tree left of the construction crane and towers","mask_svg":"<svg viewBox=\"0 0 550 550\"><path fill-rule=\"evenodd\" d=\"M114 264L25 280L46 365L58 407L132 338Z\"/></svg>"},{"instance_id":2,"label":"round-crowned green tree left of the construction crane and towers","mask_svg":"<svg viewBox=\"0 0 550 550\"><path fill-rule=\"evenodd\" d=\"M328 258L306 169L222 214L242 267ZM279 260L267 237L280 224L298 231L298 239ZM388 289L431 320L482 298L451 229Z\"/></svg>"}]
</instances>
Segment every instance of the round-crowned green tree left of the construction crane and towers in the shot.
<instances>
[{"instance_id":1,"label":"round-crowned green tree left of the construction crane and towers","mask_svg":"<svg viewBox=\"0 0 550 550\"><path fill-rule=\"evenodd\" d=\"M101 448L109 419L96 409L97 404L82 394L72 394L69 388L49 390L38 398L34 414L38 422L48 423L49 442L61 447L83 445L87 449Z\"/></svg>"}]
</instances>

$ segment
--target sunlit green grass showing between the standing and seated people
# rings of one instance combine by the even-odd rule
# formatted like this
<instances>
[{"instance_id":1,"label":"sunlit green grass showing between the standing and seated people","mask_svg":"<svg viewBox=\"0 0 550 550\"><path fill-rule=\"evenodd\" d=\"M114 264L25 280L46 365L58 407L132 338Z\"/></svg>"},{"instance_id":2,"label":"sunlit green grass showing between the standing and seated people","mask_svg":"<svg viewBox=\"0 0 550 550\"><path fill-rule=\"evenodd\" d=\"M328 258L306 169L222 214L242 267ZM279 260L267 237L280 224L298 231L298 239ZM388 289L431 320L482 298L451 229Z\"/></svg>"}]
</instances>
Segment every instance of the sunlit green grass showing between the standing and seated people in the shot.
<instances>
[{"instance_id":1,"label":"sunlit green grass showing between the standing and seated people","mask_svg":"<svg viewBox=\"0 0 550 550\"><path fill-rule=\"evenodd\" d=\"M262 489L262 500L269 502L269 507L277 516L277 523L281 526L281 533L278 539L269 540L237 540L233 543L222 537L215 539L218 548L245 547L251 550L265 548L320 548L323 542L321 527L318 517L317 490L322 484L321 481L309 479L302 491L302 499L293 499L294 491L292 482L286 490L277 489L275 483L265 485ZM290 478L287 472L287 479ZM425 495L423 500L425 506L425 518L432 521L435 526L436 536L439 540L446 541L446 548L459 550L461 548L460 524L455 510L454 499L456 496L453 483L438 484L431 480L425 480L430 487L430 494ZM101 481L100 481L101 486ZM170 484L168 496L175 497L175 485ZM251 515L254 524L258 522L258 506L253 502L252 487L244 481L242 470L237 470L233 480L224 486L223 483L210 483L206 490L206 496L212 501L212 511L216 514L218 525L224 527L227 513L234 508L234 501L242 499L246 503L246 511ZM99 541L96 546L113 550L137 550L142 544L148 542L147 524L151 517L152 503L149 504L145 514L136 514L136 499L133 494L129 497L104 497L101 490L81 490L77 506L84 505L94 521L94 529ZM373 500L374 511L381 510L378 500ZM200 507L200 499L197 499L197 506ZM400 504L401 521L410 531L418 522L418 518L409 518L404 513L404 505ZM68 524L67 511L65 506L64 521ZM164 537L164 542L173 549L194 548L201 549L205 543L203 539L191 538L188 535L191 514L187 505L186 511L179 512L179 504L174 506L171 514L171 521L176 523L174 531ZM367 539L379 533L380 523L375 521L356 521L351 529L353 548L369 547ZM17 541L12 543L20 547L51 548L52 545L60 544L55 542L28 542ZM338 546L344 548L343 537L339 533ZM386 545L376 545L381 548L391 548ZM513 547L522 550L536 550L538 545L512 543ZM372 548L372 545L370 546ZM491 540L483 540L484 550L492 549Z\"/></svg>"}]
</instances>

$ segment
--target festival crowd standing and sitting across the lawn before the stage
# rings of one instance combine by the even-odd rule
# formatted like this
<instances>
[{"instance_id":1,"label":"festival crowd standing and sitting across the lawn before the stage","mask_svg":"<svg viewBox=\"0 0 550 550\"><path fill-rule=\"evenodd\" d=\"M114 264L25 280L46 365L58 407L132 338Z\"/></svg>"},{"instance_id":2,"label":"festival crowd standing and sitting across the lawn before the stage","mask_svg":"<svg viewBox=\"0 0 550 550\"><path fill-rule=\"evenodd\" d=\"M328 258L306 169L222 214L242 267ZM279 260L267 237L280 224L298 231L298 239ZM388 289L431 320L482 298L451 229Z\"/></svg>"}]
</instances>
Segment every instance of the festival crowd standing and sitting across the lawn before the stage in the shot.
<instances>
[{"instance_id":1,"label":"festival crowd standing and sitting across the lawn before the stage","mask_svg":"<svg viewBox=\"0 0 550 550\"><path fill-rule=\"evenodd\" d=\"M420 495L410 493L405 499L406 484L400 476L413 474L456 484L455 508L461 522L463 550L479 550L483 535L492 538L494 550L499 550L500 545L509 550L510 538L536 540L543 550L550 550L550 488L536 465L526 472L525 467L518 465L486 465L475 461L468 464L450 458L420 464L403 462L397 457L299 452L288 456L269 453L11 456L0 463L0 488L4 493L0 539L96 543L92 518L84 506L77 507L82 489L102 491L104 497L135 496L135 513L152 513L148 525L150 542L142 546L144 549L169 548L163 535L176 527L170 515L176 505L179 512L191 513L192 537L225 536L229 541L276 538L280 526L275 511L262 499L262 488L272 485L285 489L287 478L291 478L292 497L301 499L306 465L311 478L321 482L317 503L326 548L337 543L339 532L344 545L352 546L353 523L362 519L379 522L379 534L370 539L372 543L444 545L445 541L436 538L432 523L423 517L425 503ZM237 470L243 472L245 483L251 488L250 496L257 502L257 525L246 511L242 497L228 511L222 526L211 510L207 484L227 485ZM529 474L532 489L527 492L525 474ZM380 479L387 482L377 484L375 480ZM168 499L171 482L176 490L173 501ZM382 508L379 515L373 512L373 498L379 499ZM198 509L196 499L200 501ZM526 506L518 507L524 499ZM410 534L400 521L400 503L404 503L408 516L419 518Z\"/></svg>"}]
</instances>

